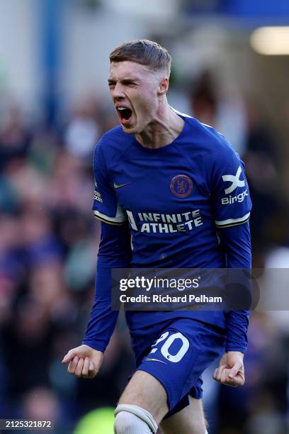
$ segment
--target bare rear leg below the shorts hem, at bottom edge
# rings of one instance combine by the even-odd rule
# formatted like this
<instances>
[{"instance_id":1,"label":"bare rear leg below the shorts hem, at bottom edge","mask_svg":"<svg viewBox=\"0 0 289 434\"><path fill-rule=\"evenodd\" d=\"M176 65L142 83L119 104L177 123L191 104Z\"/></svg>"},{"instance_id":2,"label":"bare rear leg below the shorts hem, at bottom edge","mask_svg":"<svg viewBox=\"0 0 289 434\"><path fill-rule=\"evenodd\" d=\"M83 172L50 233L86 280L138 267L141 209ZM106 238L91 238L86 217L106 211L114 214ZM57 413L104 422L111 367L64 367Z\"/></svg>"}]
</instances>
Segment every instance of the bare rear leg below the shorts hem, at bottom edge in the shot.
<instances>
[{"instance_id":1,"label":"bare rear leg below the shorts hem, at bottom edge","mask_svg":"<svg viewBox=\"0 0 289 434\"><path fill-rule=\"evenodd\" d=\"M201 399L190 396L190 404L161 423L164 434L204 434L206 429Z\"/></svg>"}]
</instances>

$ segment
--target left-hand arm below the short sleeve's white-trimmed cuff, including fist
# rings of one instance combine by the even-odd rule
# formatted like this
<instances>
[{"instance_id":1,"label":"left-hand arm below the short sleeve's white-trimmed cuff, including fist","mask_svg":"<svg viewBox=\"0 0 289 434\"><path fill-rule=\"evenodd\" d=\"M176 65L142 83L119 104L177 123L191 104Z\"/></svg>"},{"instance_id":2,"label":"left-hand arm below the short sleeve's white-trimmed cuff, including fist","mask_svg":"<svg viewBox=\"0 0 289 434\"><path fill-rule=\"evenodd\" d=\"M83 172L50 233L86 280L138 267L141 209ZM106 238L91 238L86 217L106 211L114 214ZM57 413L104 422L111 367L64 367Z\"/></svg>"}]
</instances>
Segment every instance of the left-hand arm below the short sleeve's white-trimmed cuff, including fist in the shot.
<instances>
[{"instance_id":1,"label":"left-hand arm below the short sleeve's white-trimmed cuff, including fist","mask_svg":"<svg viewBox=\"0 0 289 434\"><path fill-rule=\"evenodd\" d=\"M101 223L94 306L82 345L69 350L62 360L69 363L69 374L93 378L98 373L118 318L118 311L111 309L111 268L128 267L130 257L128 226Z\"/></svg>"}]
</instances>

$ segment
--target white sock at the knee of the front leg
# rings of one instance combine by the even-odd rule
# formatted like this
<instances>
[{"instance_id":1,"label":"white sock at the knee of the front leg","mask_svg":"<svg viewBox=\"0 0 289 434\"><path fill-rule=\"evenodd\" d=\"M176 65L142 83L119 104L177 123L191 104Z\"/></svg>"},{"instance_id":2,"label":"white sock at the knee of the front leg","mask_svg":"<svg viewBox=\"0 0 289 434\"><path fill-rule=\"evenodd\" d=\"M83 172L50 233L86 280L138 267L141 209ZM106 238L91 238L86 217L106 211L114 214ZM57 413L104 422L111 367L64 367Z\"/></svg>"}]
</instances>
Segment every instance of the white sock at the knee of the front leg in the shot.
<instances>
[{"instance_id":1,"label":"white sock at the knee of the front leg","mask_svg":"<svg viewBox=\"0 0 289 434\"><path fill-rule=\"evenodd\" d=\"M115 408L115 434L155 434L157 423L151 413L139 406L119 404Z\"/></svg>"}]
</instances>

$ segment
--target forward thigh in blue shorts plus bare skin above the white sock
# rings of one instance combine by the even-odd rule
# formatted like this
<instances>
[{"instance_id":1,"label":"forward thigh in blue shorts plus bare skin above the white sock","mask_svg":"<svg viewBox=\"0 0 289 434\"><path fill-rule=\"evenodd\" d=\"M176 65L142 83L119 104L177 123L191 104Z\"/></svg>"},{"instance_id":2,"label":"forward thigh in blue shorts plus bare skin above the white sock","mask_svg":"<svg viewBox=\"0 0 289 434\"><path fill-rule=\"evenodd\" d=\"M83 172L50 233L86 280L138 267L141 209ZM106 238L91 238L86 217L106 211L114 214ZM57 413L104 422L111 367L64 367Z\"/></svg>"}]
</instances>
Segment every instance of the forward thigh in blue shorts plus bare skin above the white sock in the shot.
<instances>
[{"instance_id":1,"label":"forward thigh in blue shorts plus bare skin above the white sock","mask_svg":"<svg viewBox=\"0 0 289 434\"><path fill-rule=\"evenodd\" d=\"M157 422L188 406L189 394L202 397L200 376L225 347L224 335L187 318L169 323L159 335L154 330L137 338L140 336L135 336L137 372L142 374L136 372L132 377L121 403L145 408Z\"/></svg>"}]
</instances>

